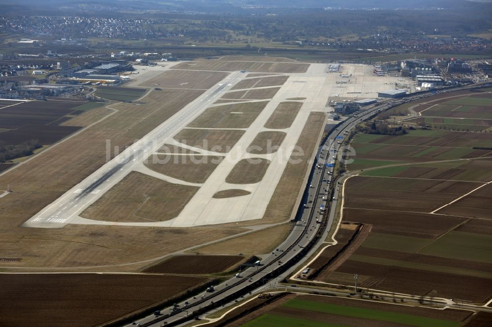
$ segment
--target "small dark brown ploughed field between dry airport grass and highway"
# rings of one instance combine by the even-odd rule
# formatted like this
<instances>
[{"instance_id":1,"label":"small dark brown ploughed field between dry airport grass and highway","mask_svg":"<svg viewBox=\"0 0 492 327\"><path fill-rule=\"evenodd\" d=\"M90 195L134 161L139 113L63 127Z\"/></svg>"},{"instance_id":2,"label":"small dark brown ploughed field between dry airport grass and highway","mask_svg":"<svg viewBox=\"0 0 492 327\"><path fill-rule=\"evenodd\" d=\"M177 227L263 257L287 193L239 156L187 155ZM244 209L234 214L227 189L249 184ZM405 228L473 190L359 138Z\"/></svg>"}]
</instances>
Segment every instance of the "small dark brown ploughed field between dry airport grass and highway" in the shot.
<instances>
[{"instance_id":1,"label":"small dark brown ploughed field between dry airport grass and highway","mask_svg":"<svg viewBox=\"0 0 492 327\"><path fill-rule=\"evenodd\" d=\"M221 273L237 267L245 259L242 255L178 255L146 268L144 273Z\"/></svg>"}]
</instances>

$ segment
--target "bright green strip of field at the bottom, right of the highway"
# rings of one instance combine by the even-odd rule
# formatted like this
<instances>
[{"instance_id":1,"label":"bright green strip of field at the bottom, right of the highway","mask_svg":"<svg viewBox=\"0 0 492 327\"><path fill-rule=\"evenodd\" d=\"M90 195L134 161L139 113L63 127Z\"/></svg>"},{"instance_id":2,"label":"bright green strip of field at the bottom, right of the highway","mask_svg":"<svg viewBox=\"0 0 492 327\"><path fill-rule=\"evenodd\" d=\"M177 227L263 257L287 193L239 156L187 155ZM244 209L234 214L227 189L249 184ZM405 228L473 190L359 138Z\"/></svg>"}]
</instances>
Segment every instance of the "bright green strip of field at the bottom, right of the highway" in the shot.
<instances>
[{"instance_id":1,"label":"bright green strip of field at the bottom, right of the highway","mask_svg":"<svg viewBox=\"0 0 492 327\"><path fill-rule=\"evenodd\" d=\"M335 314L347 317L357 317L370 320L380 320L419 327L458 327L460 323L413 316L403 313L365 309L353 306L342 306L330 303L313 302L306 300L293 299L284 303L283 306L302 310L311 310L328 314ZM298 325L299 326L299 325Z\"/></svg>"}]
</instances>

